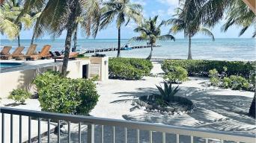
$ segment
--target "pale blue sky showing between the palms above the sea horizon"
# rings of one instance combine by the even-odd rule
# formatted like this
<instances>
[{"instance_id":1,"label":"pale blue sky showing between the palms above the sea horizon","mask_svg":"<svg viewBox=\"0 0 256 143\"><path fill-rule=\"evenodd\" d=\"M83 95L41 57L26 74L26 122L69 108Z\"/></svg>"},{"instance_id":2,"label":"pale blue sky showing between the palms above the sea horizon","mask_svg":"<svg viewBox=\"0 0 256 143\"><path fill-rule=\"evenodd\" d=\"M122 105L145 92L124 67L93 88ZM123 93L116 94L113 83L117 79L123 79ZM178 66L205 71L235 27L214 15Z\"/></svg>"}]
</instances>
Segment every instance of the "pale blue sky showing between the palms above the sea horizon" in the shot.
<instances>
[{"instance_id":1,"label":"pale blue sky showing between the palms above the sea horizon","mask_svg":"<svg viewBox=\"0 0 256 143\"><path fill-rule=\"evenodd\" d=\"M132 2L141 4L143 9L143 15L146 18L149 18L150 16L159 16L159 22L162 20L171 19L172 15L174 14L175 7L178 6L178 0L131 0ZM223 33L221 31L222 25L225 23L225 19L223 19L221 22L219 22L218 25L215 26L215 28L212 28L211 31L213 32L214 36L216 38L238 38L238 34L240 32L239 27L231 27L227 32ZM126 27L123 26L121 28L121 38L122 39L129 39L132 36L138 36L138 34L133 32L133 29L135 28L135 23L130 22L129 25ZM162 34L167 34L168 29L170 26L166 26L165 28L162 28ZM240 36L240 38L250 38L252 37L252 31L254 31L254 28L249 28L243 36ZM32 30L22 30L20 37L21 39L31 39L33 31ZM58 37L58 39L65 39L66 32L63 32L63 34ZM79 39L85 39L85 34L82 34L82 31L79 32L78 38ZM174 35L177 39L183 39L184 36L182 33L178 33ZM97 34L96 39L117 39L118 38L118 30L115 26L115 22L112 23L112 25L109 25L108 28L100 31ZM198 34L194 36L194 38L208 38L207 36ZM1 35L1 39L7 39L7 36ZM51 39L49 35L40 37L40 39Z\"/></svg>"}]
</instances>

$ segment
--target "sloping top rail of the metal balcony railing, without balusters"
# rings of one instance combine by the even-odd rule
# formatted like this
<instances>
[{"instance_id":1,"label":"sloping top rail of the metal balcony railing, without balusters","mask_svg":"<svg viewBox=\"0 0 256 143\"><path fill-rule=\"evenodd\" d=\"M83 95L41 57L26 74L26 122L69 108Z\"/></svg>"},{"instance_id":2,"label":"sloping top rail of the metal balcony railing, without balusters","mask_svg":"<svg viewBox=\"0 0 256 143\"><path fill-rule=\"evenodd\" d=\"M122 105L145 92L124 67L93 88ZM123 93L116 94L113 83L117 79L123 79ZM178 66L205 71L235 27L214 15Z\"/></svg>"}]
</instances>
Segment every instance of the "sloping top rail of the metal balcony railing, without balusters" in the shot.
<instances>
[{"instance_id":1,"label":"sloping top rail of the metal balcony railing, without balusters","mask_svg":"<svg viewBox=\"0 0 256 143\"><path fill-rule=\"evenodd\" d=\"M124 121L111 118L97 118L84 115L68 115L55 112L41 112L27 109L15 109L0 107L1 113L13 114L13 115L24 115L31 116L35 118L49 118L52 120L63 120L70 121L73 123L85 122L88 124L100 124L107 126L118 126L118 127L127 127L130 129L139 129L139 130L152 130L156 132L163 133L174 133L185 136L197 136L202 138L209 139L222 139L226 141L234 142L255 142L256 137L252 134L241 134L241 133L232 133L232 132L223 132L216 130L202 130L193 127L178 127L171 125L163 124L152 124L139 121Z\"/></svg>"}]
</instances>

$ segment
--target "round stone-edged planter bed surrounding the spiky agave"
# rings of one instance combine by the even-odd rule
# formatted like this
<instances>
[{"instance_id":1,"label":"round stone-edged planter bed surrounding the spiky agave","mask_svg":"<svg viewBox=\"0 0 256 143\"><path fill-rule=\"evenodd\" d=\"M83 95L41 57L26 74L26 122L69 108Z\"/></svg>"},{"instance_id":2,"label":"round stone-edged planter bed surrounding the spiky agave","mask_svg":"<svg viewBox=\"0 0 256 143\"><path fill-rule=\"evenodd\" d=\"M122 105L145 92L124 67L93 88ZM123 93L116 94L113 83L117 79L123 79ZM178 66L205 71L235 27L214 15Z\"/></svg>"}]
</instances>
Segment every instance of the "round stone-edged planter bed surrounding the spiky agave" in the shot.
<instances>
[{"instance_id":1,"label":"round stone-edged planter bed surrounding the spiky agave","mask_svg":"<svg viewBox=\"0 0 256 143\"><path fill-rule=\"evenodd\" d=\"M169 115L183 114L184 112L192 112L195 105L187 98L174 96L168 104L159 104L159 95L141 96L136 104L140 107L145 107L148 112L162 112Z\"/></svg>"}]
</instances>

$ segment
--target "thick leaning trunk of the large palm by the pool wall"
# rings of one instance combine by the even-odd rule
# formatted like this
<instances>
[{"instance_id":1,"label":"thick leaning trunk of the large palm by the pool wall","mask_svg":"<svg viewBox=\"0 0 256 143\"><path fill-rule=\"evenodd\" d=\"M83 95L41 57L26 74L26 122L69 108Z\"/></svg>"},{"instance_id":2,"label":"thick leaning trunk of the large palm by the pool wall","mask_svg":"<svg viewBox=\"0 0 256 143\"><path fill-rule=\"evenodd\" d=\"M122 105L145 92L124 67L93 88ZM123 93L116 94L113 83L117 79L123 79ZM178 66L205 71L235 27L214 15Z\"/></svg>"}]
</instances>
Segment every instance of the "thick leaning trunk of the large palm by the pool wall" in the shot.
<instances>
[{"instance_id":1,"label":"thick leaning trunk of the large palm by the pool wall","mask_svg":"<svg viewBox=\"0 0 256 143\"><path fill-rule=\"evenodd\" d=\"M70 46L71 46L71 38L72 38L72 28L71 26L67 29L67 36L65 40L65 51L64 51L64 60L62 65L61 74L63 77L67 76L67 63L70 55Z\"/></svg>"}]
</instances>

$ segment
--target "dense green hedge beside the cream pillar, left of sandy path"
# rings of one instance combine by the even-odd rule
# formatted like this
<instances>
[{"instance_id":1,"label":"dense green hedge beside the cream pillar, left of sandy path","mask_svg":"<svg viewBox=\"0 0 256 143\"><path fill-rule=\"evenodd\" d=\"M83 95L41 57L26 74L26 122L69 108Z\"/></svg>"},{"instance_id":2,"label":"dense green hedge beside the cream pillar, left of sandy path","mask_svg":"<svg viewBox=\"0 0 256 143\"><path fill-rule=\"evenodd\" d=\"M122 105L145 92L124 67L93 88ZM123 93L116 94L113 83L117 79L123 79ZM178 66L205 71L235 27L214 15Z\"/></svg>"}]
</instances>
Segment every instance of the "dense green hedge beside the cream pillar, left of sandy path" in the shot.
<instances>
[{"instance_id":1,"label":"dense green hedge beside the cream pillar, left of sandy path","mask_svg":"<svg viewBox=\"0 0 256 143\"><path fill-rule=\"evenodd\" d=\"M112 58L109 60L109 78L140 80L150 74L153 65L148 60Z\"/></svg>"}]
</instances>

